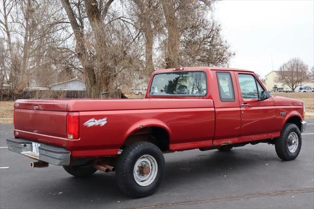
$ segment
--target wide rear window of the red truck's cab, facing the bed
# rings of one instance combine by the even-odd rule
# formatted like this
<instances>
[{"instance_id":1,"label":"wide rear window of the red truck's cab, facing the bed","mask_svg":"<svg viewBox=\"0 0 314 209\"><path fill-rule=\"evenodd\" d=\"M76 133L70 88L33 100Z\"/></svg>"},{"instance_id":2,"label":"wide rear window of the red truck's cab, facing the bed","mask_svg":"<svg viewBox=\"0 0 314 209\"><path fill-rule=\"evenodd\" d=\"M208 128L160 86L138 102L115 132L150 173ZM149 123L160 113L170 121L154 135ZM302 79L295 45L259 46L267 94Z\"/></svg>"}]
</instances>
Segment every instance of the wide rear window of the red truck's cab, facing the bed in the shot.
<instances>
[{"instance_id":1,"label":"wide rear window of the red truck's cab, facing the bed","mask_svg":"<svg viewBox=\"0 0 314 209\"><path fill-rule=\"evenodd\" d=\"M173 72L157 74L153 78L150 95L205 96L204 72Z\"/></svg>"}]
</instances>

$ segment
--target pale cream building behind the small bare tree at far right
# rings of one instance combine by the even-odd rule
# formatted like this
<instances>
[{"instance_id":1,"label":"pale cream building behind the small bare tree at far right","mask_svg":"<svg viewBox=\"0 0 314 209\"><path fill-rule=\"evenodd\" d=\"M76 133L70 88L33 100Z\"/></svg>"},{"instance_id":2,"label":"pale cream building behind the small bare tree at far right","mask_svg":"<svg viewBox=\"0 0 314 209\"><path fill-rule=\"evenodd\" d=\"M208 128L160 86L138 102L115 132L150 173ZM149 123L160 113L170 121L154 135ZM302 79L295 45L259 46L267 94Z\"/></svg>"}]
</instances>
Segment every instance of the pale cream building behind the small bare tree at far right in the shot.
<instances>
[{"instance_id":1,"label":"pale cream building behind the small bare tree at far right","mask_svg":"<svg viewBox=\"0 0 314 209\"><path fill-rule=\"evenodd\" d=\"M278 88L290 88L287 83L280 81L279 71L271 71L265 76L265 87L268 91L277 91ZM302 81L302 86L314 86L314 82ZM301 83L295 88L298 91L301 87Z\"/></svg>"}]
</instances>

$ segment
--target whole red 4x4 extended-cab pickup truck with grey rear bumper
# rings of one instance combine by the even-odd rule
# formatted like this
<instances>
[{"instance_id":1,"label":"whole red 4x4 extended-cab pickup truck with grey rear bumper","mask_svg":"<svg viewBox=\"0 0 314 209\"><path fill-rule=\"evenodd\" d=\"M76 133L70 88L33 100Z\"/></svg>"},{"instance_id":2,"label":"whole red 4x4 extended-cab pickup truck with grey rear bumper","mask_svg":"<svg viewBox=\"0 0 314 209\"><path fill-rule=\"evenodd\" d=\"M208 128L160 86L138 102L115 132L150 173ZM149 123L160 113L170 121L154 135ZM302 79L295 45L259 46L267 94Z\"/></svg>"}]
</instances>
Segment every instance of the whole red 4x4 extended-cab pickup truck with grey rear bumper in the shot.
<instances>
[{"instance_id":1,"label":"whole red 4x4 extended-cab pickup truck with grey rear bumper","mask_svg":"<svg viewBox=\"0 0 314 209\"><path fill-rule=\"evenodd\" d=\"M163 153L269 143L295 159L304 112L302 101L270 96L251 71L165 69L145 99L17 100L7 145L36 159L31 167L62 165L76 177L115 171L122 191L143 197L162 182Z\"/></svg>"}]
</instances>

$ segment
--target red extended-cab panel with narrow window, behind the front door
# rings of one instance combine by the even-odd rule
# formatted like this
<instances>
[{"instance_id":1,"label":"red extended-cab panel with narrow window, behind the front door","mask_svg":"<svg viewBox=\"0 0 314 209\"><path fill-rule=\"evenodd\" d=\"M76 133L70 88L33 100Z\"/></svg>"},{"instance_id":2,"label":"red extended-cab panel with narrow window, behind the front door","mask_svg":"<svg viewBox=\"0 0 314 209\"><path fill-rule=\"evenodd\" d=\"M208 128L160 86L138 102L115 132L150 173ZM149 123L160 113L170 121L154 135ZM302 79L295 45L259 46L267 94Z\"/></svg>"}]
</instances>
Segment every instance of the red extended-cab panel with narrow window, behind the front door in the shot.
<instances>
[{"instance_id":1,"label":"red extended-cab panel with narrow window, behind the front door","mask_svg":"<svg viewBox=\"0 0 314 209\"><path fill-rule=\"evenodd\" d=\"M211 71L210 93L215 105L214 146L238 142L240 103L233 71Z\"/></svg>"}]
</instances>

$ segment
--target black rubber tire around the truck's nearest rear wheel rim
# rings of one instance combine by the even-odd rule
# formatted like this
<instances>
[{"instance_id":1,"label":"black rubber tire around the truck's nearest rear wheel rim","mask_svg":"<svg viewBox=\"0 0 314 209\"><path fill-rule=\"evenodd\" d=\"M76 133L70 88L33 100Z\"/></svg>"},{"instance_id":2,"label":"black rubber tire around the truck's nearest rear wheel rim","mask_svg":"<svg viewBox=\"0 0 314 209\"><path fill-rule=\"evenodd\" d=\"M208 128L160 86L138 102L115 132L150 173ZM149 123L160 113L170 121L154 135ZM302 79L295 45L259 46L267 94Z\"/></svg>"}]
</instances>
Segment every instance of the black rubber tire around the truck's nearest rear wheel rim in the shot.
<instances>
[{"instance_id":1,"label":"black rubber tire around the truck's nearest rear wheel rim","mask_svg":"<svg viewBox=\"0 0 314 209\"><path fill-rule=\"evenodd\" d=\"M157 175L152 183L142 186L135 181L134 166L144 155L154 157L157 162ZM150 142L136 142L126 147L116 164L116 180L120 189L131 197L145 197L153 194L164 176L165 160L160 149ZM151 175L153 169L150 170Z\"/></svg>"}]
</instances>

